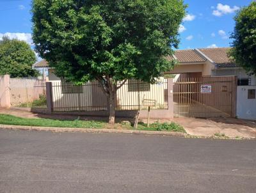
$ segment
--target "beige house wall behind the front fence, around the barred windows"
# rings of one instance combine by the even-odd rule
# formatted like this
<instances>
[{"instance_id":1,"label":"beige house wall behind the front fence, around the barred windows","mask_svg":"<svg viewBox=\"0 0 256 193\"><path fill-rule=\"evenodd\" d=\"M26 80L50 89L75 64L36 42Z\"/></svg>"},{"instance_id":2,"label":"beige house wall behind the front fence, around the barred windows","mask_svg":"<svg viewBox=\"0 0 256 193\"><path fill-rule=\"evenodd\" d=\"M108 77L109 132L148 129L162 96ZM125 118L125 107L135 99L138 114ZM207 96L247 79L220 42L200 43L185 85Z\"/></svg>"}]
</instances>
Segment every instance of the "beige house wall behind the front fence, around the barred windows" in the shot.
<instances>
[{"instance_id":1,"label":"beige house wall behind the front fence, around the barred windows","mask_svg":"<svg viewBox=\"0 0 256 193\"><path fill-rule=\"evenodd\" d=\"M53 107L57 111L88 111L93 110L95 106L97 109L100 107L102 110L106 109L106 95L100 88L96 89L95 85L92 85L95 84L93 82L88 82L83 86L83 93L63 94L60 78L54 75L54 69L49 69L49 81L52 82ZM132 92L128 90L126 83L117 91L117 107L119 106L120 110L138 109L144 96L146 99L156 100L156 108L167 107L164 105L164 89L167 89L167 83L164 83L163 77L157 80L157 84L150 85L150 91ZM64 108L61 109L61 107ZM92 108L85 109L84 107Z\"/></svg>"}]
</instances>

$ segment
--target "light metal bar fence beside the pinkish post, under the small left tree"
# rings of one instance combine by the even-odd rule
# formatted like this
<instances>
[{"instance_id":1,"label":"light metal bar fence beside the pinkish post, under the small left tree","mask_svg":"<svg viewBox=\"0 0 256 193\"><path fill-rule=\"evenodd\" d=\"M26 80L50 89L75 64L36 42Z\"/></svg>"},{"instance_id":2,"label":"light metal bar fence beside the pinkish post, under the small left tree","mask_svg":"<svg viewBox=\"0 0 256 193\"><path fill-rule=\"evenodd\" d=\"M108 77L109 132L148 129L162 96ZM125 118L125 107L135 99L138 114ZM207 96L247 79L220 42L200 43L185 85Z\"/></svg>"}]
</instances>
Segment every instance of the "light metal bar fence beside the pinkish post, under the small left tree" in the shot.
<instances>
[{"instance_id":1,"label":"light metal bar fence beside the pinkish post, under the small left tree","mask_svg":"<svg viewBox=\"0 0 256 193\"><path fill-rule=\"evenodd\" d=\"M10 97L12 107L47 108L45 79L42 77L10 79Z\"/></svg>"}]
</instances>

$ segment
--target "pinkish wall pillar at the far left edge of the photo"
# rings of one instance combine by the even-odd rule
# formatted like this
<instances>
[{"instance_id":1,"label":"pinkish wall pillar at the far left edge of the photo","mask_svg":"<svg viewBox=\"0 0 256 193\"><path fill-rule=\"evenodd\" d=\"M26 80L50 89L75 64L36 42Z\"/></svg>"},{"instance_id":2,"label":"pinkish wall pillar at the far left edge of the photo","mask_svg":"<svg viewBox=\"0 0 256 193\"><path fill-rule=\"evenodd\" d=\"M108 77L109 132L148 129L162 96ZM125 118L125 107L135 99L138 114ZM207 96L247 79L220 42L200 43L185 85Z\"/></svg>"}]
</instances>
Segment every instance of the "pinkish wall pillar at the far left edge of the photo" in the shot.
<instances>
[{"instance_id":1,"label":"pinkish wall pillar at the far left edge of the photo","mask_svg":"<svg viewBox=\"0 0 256 193\"><path fill-rule=\"evenodd\" d=\"M0 76L0 107L11 107L10 75Z\"/></svg>"}]
</instances>

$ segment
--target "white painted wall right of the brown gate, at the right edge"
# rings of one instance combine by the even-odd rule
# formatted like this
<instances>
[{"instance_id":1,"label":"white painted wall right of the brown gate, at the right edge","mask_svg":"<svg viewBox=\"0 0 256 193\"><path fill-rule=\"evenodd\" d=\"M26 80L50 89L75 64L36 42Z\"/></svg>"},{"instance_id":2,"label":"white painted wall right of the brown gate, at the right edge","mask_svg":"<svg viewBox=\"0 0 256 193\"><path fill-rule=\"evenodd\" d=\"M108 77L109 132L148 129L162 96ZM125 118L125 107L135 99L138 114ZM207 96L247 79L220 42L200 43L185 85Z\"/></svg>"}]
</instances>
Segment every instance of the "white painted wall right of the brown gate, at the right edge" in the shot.
<instances>
[{"instance_id":1,"label":"white painted wall right of the brown gate, at the right edge","mask_svg":"<svg viewBox=\"0 0 256 193\"><path fill-rule=\"evenodd\" d=\"M237 117L256 120L256 99L248 99L248 89L256 86L237 86Z\"/></svg>"}]
</instances>

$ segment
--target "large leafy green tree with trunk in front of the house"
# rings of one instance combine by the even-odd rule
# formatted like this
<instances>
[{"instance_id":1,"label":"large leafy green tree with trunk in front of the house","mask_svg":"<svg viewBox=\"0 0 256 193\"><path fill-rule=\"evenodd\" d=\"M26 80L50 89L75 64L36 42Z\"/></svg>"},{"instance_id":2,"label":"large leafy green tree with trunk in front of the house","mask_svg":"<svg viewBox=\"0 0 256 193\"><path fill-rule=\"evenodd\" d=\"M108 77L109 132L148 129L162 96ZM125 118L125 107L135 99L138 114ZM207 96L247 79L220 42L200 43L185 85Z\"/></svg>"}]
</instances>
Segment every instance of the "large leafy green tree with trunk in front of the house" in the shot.
<instances>
[{"instance_id":1,"label":"large leafy green tree with trunk in front of the house","mask_svg":"<svg viewBox=\"0 0 256 193\"><path fill-rule=\"evenodd\" d=\"M183 0L34 0L33 40L59 77L102 84L115 123L116 90L127 79L154 82L174 65L166 56L185 8Z\"/></svg>"}]
</instances>

